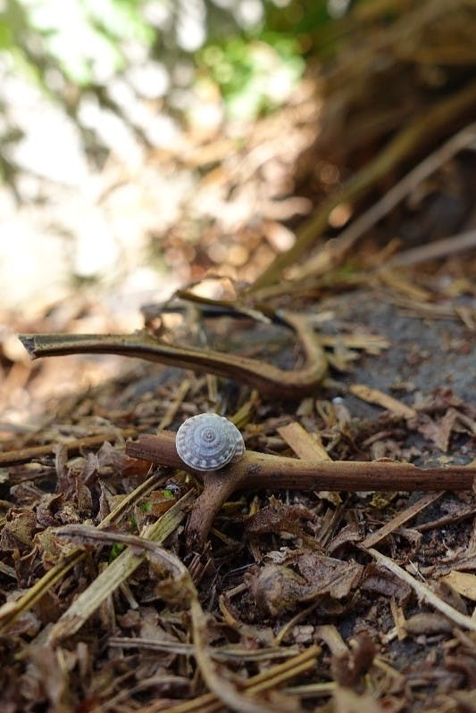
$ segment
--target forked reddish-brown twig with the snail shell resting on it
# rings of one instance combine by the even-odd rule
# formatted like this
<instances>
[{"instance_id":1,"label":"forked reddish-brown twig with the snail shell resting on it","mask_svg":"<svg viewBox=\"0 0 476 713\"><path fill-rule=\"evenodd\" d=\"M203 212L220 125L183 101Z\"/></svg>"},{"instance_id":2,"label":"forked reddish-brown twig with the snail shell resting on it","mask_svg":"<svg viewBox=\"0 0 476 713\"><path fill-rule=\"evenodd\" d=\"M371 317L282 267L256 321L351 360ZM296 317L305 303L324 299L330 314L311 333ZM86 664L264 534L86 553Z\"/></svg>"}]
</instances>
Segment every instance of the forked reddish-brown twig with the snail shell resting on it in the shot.
<instances>
[{"instance_id":1,"label":"forked reddish-brown twig with the snail shell resting on it","mask_svg":"<svg viewBox=\"0 0 476 713\"><path fill-rule=\"evenodd\" d=\"M126 453L160 465L187 468L177 454L175 434L170 431L140 435L138 441L126 444ZM315 462L246 451L241 460L203 477L204 491L197 498L188 523L188 545L200 549L213 518L235 490L469 490L476 478L476 467L417 468L395 460Z\"/></svg>"}]
</instances>

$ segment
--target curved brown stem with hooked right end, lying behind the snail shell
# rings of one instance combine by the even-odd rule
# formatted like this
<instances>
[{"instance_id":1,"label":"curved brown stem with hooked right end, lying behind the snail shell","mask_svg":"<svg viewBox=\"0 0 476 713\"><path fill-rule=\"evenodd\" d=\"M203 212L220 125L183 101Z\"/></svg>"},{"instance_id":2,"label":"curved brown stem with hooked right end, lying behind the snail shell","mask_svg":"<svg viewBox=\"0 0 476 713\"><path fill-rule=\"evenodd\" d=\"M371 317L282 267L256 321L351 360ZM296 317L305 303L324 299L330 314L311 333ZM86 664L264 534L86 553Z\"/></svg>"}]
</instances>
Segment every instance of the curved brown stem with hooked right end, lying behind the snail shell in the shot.
<instances>
[{"instance_id":1,"label":"curved brown stem with hooked right end, lying behind the snail shell","mask_svg":"<svg viewBox=\"0 0 476 713\"><path fill-rule=\"evenodd\" d=\"M305 352L305 366L296 371L236 354L165 344L146 332L131 335L20 335L31 359L65 354L103 353L159 361L182 369L206 371L253 386L263 394L296 399L318 386L327 371L319 337L302 315L280 315L296 331Z\"/></svg>"}]
</instances>

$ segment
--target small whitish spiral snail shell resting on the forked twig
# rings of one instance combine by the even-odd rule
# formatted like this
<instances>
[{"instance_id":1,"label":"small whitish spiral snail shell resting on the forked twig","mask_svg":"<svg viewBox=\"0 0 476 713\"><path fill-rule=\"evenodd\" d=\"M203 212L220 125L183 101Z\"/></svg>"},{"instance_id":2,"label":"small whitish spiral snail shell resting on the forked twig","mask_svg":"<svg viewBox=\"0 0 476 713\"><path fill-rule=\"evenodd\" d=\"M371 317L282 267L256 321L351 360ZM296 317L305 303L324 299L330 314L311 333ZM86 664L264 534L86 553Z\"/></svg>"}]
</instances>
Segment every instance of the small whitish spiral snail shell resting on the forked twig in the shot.
<instances>
[{"instance_id":1,"label":"small whitish spiral snail shell resting on the forked twig","mask_svg":"<svg viewBox=\"0 0 476 713\"><path fill-rule=\"evenodd\" d=\"M216 413L199 413L184 421L175 445L181 460L195 470L218 470L245 452L238 428Z\"/></svg>"}]
</instances>

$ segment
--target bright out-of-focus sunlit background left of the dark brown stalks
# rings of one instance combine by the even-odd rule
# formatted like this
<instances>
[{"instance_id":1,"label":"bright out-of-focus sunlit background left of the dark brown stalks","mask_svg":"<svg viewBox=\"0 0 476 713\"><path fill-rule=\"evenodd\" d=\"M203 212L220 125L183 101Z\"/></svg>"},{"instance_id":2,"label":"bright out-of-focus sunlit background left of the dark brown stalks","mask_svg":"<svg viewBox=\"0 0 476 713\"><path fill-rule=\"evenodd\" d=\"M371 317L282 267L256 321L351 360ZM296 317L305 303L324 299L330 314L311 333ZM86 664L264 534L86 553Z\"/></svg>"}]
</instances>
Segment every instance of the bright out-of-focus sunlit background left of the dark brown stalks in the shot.
<instances>
[{"instance_id":1,"label":"bright out-of-focus sunlit background left of the dark brown stalks","mask_svg":"<svg viewBox=\"0 0 476 713\"><path fill-rule=\"evenodd\" d=\"M311 209L292 197L316 132L299 87L347 5L0 0L5 419L125 368L32 365L18 332L141 327L144 303L208 272L252 279L288 246L281 220Z\"/></svg>"}]
</instances>

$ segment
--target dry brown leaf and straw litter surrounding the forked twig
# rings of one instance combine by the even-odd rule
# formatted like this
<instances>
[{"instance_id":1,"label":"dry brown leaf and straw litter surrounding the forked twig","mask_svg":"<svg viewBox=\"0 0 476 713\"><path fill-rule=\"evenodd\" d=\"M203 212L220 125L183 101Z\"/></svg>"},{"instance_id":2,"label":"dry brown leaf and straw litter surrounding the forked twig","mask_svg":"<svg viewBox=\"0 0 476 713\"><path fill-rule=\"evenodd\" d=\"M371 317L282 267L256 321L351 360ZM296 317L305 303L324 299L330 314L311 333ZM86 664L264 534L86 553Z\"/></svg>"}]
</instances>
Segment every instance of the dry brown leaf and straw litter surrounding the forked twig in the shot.
<instances>
[{"instance_id":1,"label":"dry brown leaf and straw litter surrounding the forked twig","mask_svg":"<svg viewBox=\"0 0 476 713\"><path fill-rule=\"evenodd\" d=\"M415 318L375 300L372 310L366 293L354 297L347 309L359 306L359 314L371 325L373 320L372 328L388 335L388 343L396 344L394 324L400 330L405 325L408 335ZM344 328L350 312L341 309L338 296L332 299ZM244 343L250 322L238 328ZM464 330L455 322L445 328ZM263 337L263 329L270 329L272 338L278 334L274 326L260 325ZM439 335L430 322L427 337L431 329ZM329 341L326 350L334 349L332 344L337 342ZM289 340L280 344L282 363L287 364L289 348ZM287 461L313 458L323 470L334 468L336 460L355 460L359 468L375 458L383 458L385 467L388 457L438 468L445 460L471 461L473 406L457 384L456 391L438 389L439 374L430 383L428 372L422 378L413 368L412 387L397 389L397 401L408 411L398 413L388 410L394 402L368 402L347 389L368 384L389 394L387 377L379 382L384 368L392 383L408 383L406 349L404 344L399 352L394 347L362 352L352 372L332 372L320 394L297 404L271 402L246 386L226 387L226 412L235 412L248 449ZM446 356L456 360L452 364L467 358L452 351ZM143 437L168 421L175 430L189 415L216 409L210 396L217 392L202 377L190 374L184 386L177 372L163 380L163 368L150 369L155 376L143 381L139 366L136 386L129 388L127 423L116 408L120 383L116 390L96 387L76 400L70 426L64 414L61 424L49 419L48 450L32 450L28 462L12 460L5 468L0 626L4 635L15 637L15 652L22 651L9 668L11 680L25 691L21 705L28 706L27 695L36 691L41 705L62 701L65 710L79 701L91 706L117 701L112 704L117 710L146 701L151 713L174 706L187 711L194 699L206 710L212 705L206 696L221 691L222 679L231 681L227 701L243 709L301 710L312 702L346 711L365 701L379 713L404 705L416 711L422 692L435 705L454 703L457 690L473 680L474 494L397 489L379 500L367 491L245 491L224 503L205 550L188 551L188 510L196 507L201 481L180 468L130 458L124 431L111 435L117 427ZM142 383L146 391L138 386ZM89 442L98 404L103 414L110 410L116 417L109 415L103 433ZM446 419L443 440L422 433L429 419L435 424ZM40 438L10 434L7 450L35 449ZM78 443L74 450L71 438ZM64 527L74 538L58 535ZM154 532L180 566L188 565L195 583L205 617L194 615L205 651L201 662L186 580L167 574L154 550L139 542L152 546L155 535L147 533ZM107 660L95 643L98 633L111 642ZM51 688L38 687L43 669L26 652L45 640L60 657L48 659L56 671ZM432 658L436 645L444 647L443 659ZM302 667L301 650L313 651ZM273 667L285 666L280 656L289 662L282 692L284 683L278 686L271 676ZM197 681L198 667L205 670L206 683ZM256 676L268 675L263 685L269 683L269 692L254 693ZM378 693L369 692L367 682ZM243 685L249 686L244 701ZM11 701L12 689L5 686L2 695Z\"/></svg>"}]
</instances>

